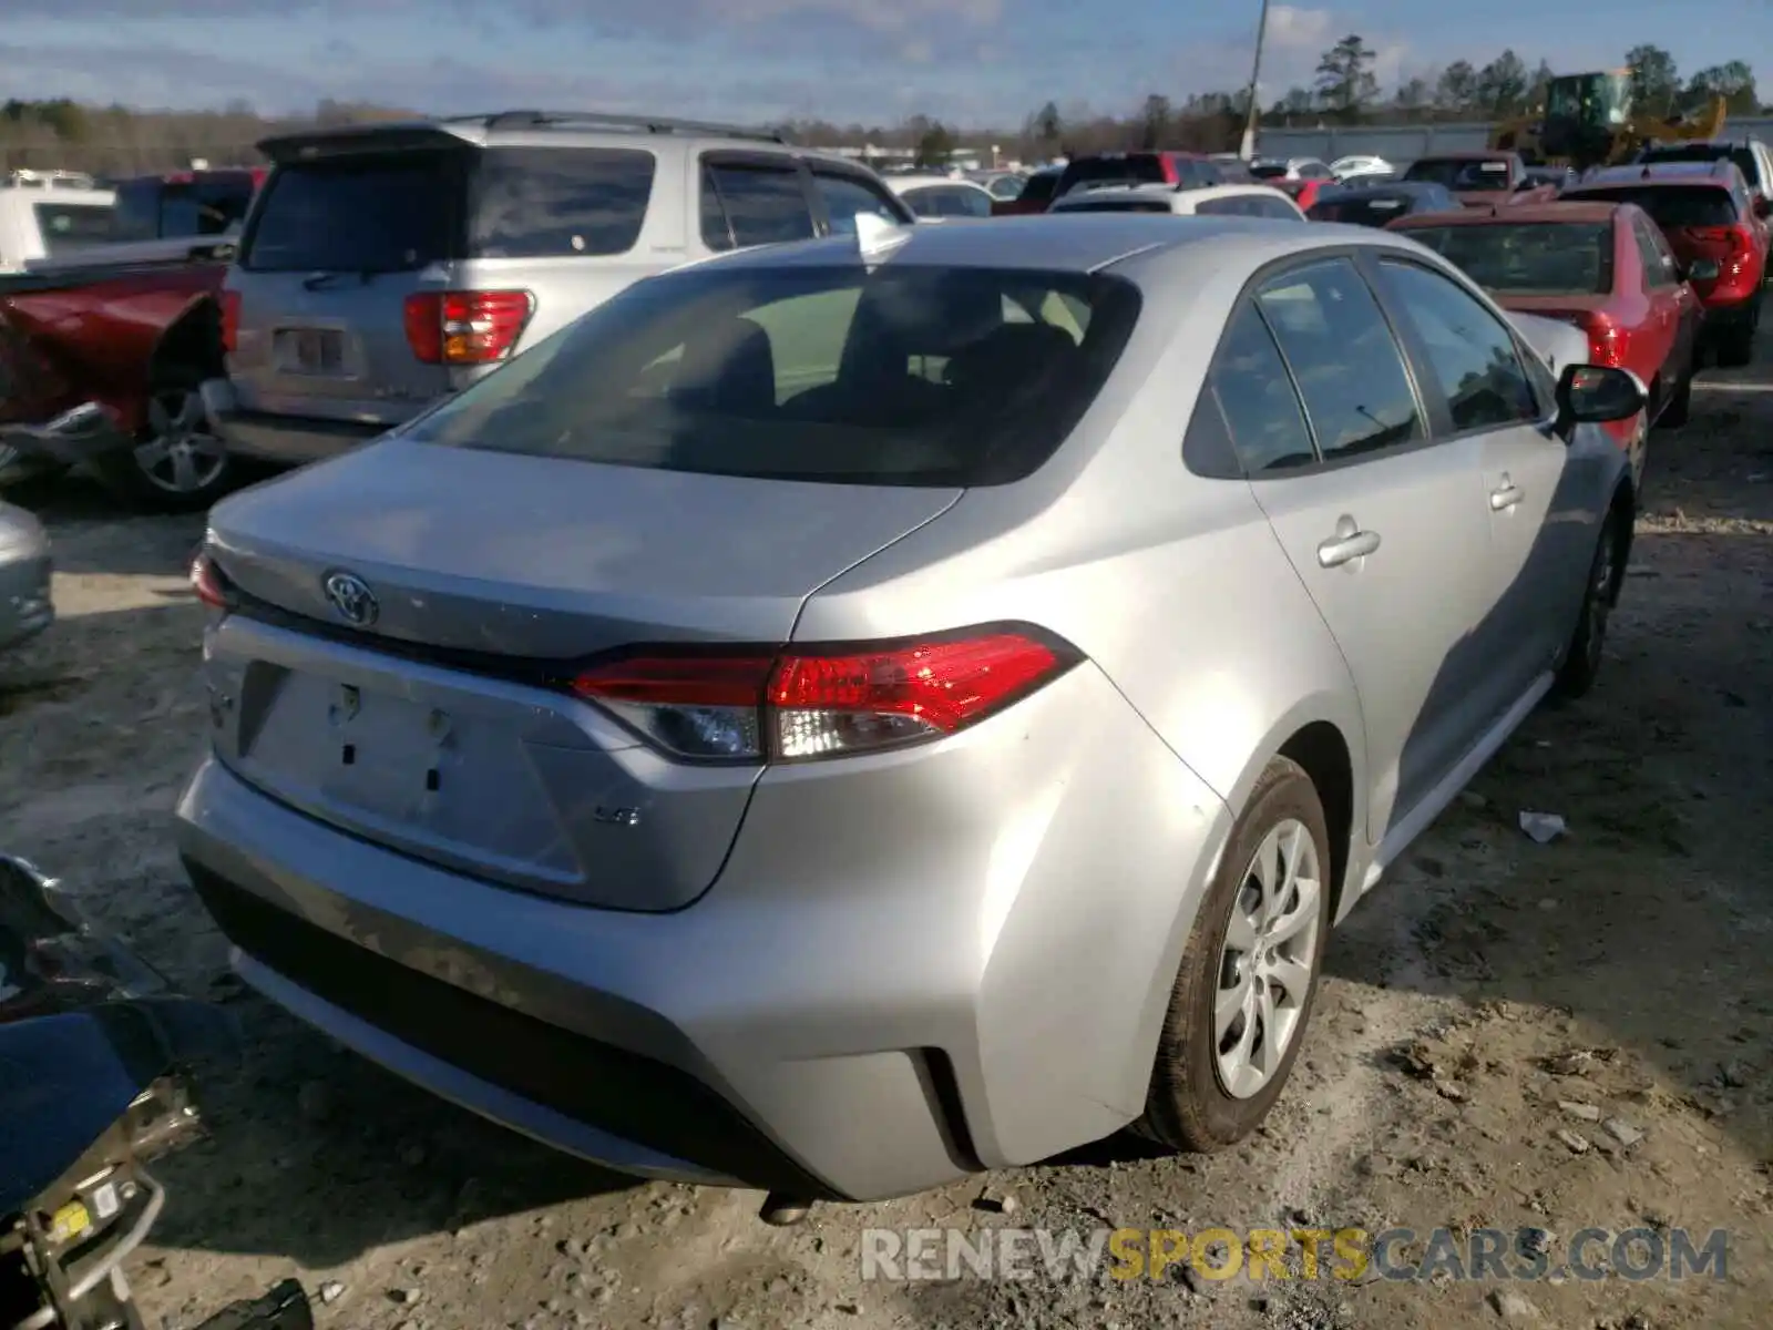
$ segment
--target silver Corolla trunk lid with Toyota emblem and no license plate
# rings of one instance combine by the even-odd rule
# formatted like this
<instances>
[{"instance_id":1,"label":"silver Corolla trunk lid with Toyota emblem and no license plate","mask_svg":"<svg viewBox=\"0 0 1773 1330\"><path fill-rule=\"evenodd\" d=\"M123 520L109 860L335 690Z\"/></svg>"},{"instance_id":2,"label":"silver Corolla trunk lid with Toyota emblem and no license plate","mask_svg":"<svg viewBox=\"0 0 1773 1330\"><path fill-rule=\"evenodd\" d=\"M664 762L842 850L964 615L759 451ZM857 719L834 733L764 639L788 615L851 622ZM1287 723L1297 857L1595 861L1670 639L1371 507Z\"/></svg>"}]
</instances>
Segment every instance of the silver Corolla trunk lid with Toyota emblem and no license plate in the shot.
<instances>
[{"instance_id":1,"label":"silver Corolla trunk lid with Toyota emblem and no license plate","mask_svg":"<svg viewBox=\"0 0 1773 1330\"><path fill-rule=\"evenodd\" d=\"M785 642L812 591L957 497L387 440L211 514L215 560L250 598L211 635L216 752L401 853L679 908L718 872L759 768L668 761L562 686L573 663ZM372 622L328 599L337 575L374 598Z\"/></svg>"}]
</instances>

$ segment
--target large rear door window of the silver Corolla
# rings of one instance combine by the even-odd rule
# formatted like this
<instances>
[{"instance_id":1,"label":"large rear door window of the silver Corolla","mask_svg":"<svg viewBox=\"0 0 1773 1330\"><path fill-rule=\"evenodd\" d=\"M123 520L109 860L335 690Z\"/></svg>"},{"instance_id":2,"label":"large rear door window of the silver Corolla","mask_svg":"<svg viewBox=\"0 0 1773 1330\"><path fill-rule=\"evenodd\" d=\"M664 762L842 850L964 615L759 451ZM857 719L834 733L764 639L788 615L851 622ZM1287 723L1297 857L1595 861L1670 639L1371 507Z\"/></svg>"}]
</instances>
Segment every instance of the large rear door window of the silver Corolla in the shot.
<instances>
[{"instance_id":1,"label":"large rear door window of the silver Corolla","mask_svg":"<svg viewBox=\"0 0 1773 1330\"><path fill-rule=\"evenodd\" d=\"M1347 259L1300 268L1257 294L1305 399L1324 461L1425 436L1397 339Z\"/></svg>"}]
</instances>

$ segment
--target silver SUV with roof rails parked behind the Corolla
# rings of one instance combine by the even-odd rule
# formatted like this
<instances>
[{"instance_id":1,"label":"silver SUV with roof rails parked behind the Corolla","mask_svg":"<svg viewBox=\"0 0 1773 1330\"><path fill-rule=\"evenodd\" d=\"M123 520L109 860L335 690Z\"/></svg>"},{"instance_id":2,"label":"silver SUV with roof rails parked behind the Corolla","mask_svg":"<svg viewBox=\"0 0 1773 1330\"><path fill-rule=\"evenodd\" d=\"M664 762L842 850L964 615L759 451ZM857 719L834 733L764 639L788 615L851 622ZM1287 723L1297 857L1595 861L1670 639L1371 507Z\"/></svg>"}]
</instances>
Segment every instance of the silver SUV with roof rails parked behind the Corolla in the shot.
<instances>
[{"instance_id":1,"label":"silver SUV with roof rails parked behind the Corolla","mask_svg":"<svg viewBox=\"0 0 1773 1330\"><path fill-rule=\"evenodd\" d=\"M204 401L229 450L277 463L404 424L642 277L913 220L860 163L723 124L500 112L259 147Z\"/></svg>"}]
</instances>

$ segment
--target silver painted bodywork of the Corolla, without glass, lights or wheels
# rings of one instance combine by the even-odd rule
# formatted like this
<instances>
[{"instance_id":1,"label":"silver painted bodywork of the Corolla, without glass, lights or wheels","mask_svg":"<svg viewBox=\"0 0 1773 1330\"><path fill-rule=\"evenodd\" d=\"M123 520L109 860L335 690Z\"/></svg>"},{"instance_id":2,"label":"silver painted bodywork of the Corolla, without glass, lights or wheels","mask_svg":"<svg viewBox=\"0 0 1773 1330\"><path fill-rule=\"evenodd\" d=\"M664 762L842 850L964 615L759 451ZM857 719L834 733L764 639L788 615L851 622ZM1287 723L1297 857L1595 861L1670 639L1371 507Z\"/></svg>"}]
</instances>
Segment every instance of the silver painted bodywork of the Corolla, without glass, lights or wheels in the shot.
<instances>
[{"instance_id":1,"label":"silver painted bodywork of the Corolla, without glass, lights or wheels","mask_svg":"<svg viewBox=\"0 0 1773 1330\"><path fill-rule=\"evenodd\" d=\"M1255 275L1374 250L1425 254L1353 227L1136 215L911 229L888 262L1112 268L1144 293L1103 392L1011 484L782 486L388 440L225 500L218 564L293 621L206 633L215 743L177 812L206 899L670 1066L833 1195L1108 1135L1144 1108L1183 945L1264 766L1307 729L1346 748L1346 915L1544 693L1624 481L1603 431L1564 442L1546 422L1291 477L1191 473L1183 434ZM814 241L713 262L855 261ZM1504 473L1527 498L1498 509ZM1323 567L1340 516L1385 543ZM385 644L324 630L328 567L378 587ZM558 690L406 658L418 610L429 642L543 654L1027 621L1085 660L938 743L695 768ZM319 768L294 718L282 754L254 748L269 729L243 743L303 690L324 731L340 686L484 722L452 819L418 794L374 809L303 786ZM637 825L587 807L617 796ZM612 1167L707 1176L512 1107L475 1048L440 1060L291 991L301 977L252 947L239 963L479 1112Z\"/></svg>"}]
</instances>

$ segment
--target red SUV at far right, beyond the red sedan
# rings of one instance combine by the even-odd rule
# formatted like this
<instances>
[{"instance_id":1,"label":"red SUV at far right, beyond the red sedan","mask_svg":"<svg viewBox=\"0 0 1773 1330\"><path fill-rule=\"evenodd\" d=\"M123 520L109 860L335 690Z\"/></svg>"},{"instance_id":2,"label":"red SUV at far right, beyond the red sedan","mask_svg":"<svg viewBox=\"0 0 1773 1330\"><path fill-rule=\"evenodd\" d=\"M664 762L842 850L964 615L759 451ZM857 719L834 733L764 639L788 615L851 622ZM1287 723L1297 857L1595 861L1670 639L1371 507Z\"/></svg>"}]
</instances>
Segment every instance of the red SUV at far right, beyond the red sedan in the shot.
<instances>
[{"instance_id":1,"label":"red SUV at far right, beyond the red sedan","mask_svg":"<svg viewBox=\"0 0 1773 1330\"><path fill-rule=\"evenodd\" d=\"M1720 365L1753 360L1768 280L1766 206L1734 161L1668 161L1589 172L1566 200L1636 204L1686 264L1706 305L1704 348Z\"/></svg>"}]
</instances>

